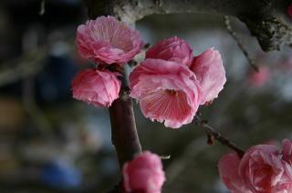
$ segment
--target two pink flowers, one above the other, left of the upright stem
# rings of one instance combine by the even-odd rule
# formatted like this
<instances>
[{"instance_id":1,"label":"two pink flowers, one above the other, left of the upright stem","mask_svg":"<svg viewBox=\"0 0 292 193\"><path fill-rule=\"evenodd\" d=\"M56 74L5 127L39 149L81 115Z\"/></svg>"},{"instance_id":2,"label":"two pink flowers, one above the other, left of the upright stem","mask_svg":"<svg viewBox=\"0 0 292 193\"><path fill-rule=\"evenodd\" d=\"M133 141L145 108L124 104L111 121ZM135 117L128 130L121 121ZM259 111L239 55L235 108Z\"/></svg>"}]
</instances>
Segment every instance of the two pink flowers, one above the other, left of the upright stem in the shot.
<instances>
[{"instance_id":1,"label":"two pink flowers, one above the other, left of the upright stem","mask_svg":"<svg viewBox=\"0 0 292 193\"><path fill-rule=\"evenodd\" d=\"M80 56L100 66L121 66L140 53L144 45L138 31L113 16L99 16L79 25L76 44ZM72 81L74 98L96 107L110 107L119 97L121 84L117 76L120 74L101 68L78 73Z\"/></svg>"}]
</instances>

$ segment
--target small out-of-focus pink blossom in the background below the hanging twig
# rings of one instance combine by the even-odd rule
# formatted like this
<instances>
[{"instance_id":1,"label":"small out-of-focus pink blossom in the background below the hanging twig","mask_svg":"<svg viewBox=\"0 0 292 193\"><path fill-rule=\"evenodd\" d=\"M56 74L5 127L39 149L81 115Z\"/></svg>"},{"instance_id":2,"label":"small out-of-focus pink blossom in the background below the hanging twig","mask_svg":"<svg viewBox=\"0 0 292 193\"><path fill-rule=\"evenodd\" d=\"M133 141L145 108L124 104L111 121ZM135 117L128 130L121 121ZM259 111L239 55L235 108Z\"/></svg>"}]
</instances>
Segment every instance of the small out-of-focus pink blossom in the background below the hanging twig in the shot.
<instances>
[{"instance_id":1,"label":"small out-of-focus pink blossom in the background below the hanging twig","mask_svg":"<svg viewBox=\"0 0 292 193\"><path fill-rule=\"evenodd\" d=\"M266 66L259 67L259 72L253 71L248 80L252 86L264 86L266 82L270 79L270 70Z\"/></svg>"}]
</instances>

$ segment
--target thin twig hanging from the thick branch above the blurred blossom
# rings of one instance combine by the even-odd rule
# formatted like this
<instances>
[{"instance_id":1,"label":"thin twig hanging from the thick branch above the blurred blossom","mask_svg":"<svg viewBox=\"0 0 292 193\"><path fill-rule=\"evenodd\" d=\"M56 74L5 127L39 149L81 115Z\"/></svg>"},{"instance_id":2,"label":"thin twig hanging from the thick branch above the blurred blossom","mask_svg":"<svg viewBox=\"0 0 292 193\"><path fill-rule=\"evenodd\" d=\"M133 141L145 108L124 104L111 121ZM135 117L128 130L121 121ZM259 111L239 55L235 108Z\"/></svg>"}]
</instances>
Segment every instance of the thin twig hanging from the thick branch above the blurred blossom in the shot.
<instances>
[{"instance_id":1,"label":"thin twig hanging from the thick branch above the blurred blossom","mask_svg":"<svg viewBox=\"0 0 292 193\"><path fill-rule=\"evenodd\" d=\"M236 35L235 31L233 30L232 26L230 25L230 19L227 15L224 15L224 25L228 31L228 33L235 39L235 42L237 43L237 46L242 50L242 52L244 53L249 66L251 66L255 72L259 72L258 70L258 66L255 65L255 61L249 56L247 50L245 50L245 47L243 46L243 44L240 42L240 39L238 38L238 36Z\"/></svg>"}]
</instances>

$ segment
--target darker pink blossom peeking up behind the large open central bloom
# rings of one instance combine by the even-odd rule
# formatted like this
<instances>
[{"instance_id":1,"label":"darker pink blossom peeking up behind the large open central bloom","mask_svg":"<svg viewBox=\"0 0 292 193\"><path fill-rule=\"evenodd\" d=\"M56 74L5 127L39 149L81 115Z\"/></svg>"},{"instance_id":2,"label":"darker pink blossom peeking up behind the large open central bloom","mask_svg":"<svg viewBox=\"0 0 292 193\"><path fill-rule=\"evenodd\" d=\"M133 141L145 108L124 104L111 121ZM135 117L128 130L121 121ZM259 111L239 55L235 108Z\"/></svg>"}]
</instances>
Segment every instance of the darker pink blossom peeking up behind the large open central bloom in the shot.
<instances>
[{"instance_id":1,"label":"darker pink blossom peeking up behind the large open central bloom","mask_svg":"<svg viewBox=\"0 0 292 193\"><path fill-rule=\"evenodd\" d=\"M151 46L146 52L146 58L156 58L174 61L189 66L192 62L193 50L183 39L173 36Z\"/></svg>"}]
</instances>

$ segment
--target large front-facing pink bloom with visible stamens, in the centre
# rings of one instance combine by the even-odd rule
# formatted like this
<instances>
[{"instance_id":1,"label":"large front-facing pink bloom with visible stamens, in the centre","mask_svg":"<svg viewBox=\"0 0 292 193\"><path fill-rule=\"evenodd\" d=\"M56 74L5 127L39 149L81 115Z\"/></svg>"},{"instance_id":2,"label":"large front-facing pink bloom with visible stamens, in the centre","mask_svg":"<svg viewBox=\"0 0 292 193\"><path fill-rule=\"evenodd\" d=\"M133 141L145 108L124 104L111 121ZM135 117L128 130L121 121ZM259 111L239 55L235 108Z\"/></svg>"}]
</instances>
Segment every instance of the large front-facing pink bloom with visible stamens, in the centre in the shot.
<instances>
[{"instance_id":1,"label":"large front-facing pink bloom with visible stamens, in the centre","mask_svg":"<svg viewBox=\"0 0 292 193\"><path fill-rule=\"evenodd\" d=\"M199 107L200 87L188 66L162 59L146 59L130 74L130 96L140 101L145 117L165 127L192 122Z\"/></svg>"}]
</instances>

